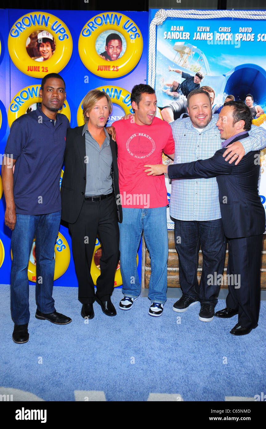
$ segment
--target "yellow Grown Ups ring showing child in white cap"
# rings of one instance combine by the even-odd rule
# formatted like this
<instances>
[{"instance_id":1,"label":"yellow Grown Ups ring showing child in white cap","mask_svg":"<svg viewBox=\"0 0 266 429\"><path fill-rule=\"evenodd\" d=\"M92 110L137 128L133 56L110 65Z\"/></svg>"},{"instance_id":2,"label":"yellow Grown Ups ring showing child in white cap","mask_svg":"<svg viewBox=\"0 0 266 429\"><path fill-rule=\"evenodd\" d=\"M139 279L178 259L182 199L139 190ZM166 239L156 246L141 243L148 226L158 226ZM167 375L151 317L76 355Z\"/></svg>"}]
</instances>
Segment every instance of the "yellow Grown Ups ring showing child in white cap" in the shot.
<instances>
[{"instance_id":1,"label":"yellow Grown Ups ring showing child in white cap","mask_svg":"<svg viewBox=\"0 0 266 429\"><path fill-rule=\"evenodd\" d=\"M35 48L35 43L42 39L51 41L47 49L49 52L41 53L40 48ZM62 70L71 57L72 47L68 27L47 12L29 12L21 16L12 25L8 37L8 50L13 63L21 72L34 78L43 78L47 73Z\"/></svg>"}]
</instances>

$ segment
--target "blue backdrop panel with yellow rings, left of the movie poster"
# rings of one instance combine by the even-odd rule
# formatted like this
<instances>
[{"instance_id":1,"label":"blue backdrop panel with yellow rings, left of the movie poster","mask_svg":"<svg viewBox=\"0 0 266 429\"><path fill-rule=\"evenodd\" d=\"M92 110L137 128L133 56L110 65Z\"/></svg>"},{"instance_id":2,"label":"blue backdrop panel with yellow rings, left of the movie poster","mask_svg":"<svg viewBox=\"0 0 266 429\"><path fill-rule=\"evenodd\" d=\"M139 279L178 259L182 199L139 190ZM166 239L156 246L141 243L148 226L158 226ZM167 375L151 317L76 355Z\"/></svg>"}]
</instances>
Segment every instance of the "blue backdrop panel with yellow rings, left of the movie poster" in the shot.
<instances>
[{"instance_id":1,"label":"blue backdrop panel with yellow rings, left of the movie poster","mask_svg":"<svg viewBox=\"0 0 266 429\"><path fill-rule=\"evenodd\" d=\"M130 93L134 85L146 82L148 12L29 11L0 10L0 153L4 153L12 122L41 102L41 78L59 73L66 84L66 101L61 112L71 127L82 125L82 100L99 88L112 99L114 109L108 124L132 112ZM40 34L41 33L41 34ZM122 50L108 60L106 37L121 37ZM44 47L38 39L44 38ZM107 52L108 54L108 52ZM2 159L2 156L1 156ZM0 181L0 196L2 186ZM4 225L5 207L0 200L0 283L10 284L11 231ZM68 228L60 226L55 246L55 286L77 286ZM95 253L100 247L97 239ZM141 249L141 247L140 247ZM35 281L35 249L30 255L28 276ZM99 254L93 261L93 275L100 273ZM141 257L139 258L141 260ZM68 265L69 264L69 265ZM139 264L139 274L140 274ZM121 285L120 270L115 286Z\"/></svg>"}]
</instances>

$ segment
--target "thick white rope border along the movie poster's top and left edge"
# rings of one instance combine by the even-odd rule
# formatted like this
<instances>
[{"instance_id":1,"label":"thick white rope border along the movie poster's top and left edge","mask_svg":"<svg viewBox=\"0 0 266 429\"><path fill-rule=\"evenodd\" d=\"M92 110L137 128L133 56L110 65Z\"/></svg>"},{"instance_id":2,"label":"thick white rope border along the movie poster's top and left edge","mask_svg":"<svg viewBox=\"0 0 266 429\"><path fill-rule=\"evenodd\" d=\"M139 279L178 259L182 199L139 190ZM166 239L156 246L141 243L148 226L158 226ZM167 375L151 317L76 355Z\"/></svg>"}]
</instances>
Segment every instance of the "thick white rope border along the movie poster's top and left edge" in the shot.
<instances>
[{"instance_id":1,"label":"thick white rope border along the movie poster's top and left edge","mask_svg":"<svg viewBox=\"0 0 266 429\"><path fill-rule=\"evenodd\" d=\"M162 25L166 18L242 18L266 19L264 10L172 10L160 9L156 12L150 24L149 56L148 56L148 85L154 88L156 72L156 26Z\"/></svg>"}]
</instances>

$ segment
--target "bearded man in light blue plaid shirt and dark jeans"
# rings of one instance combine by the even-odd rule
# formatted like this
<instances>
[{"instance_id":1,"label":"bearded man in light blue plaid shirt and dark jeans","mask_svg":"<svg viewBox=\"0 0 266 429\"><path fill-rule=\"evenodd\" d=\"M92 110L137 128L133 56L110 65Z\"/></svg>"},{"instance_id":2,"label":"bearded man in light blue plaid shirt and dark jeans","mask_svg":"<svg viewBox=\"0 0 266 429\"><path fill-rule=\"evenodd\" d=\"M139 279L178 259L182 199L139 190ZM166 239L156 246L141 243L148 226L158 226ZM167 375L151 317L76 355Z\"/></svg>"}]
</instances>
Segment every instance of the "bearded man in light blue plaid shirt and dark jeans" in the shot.
<instances>
[{"instance_id":1,"label":"bearded man in light blue plaid shirt and dark jeans","mask_svg":"<svg viewBox=\"0 0 266 429\"><path fill-rule=\"evenodd\" d=\"M207 94L207 97L206 97ZM174 163L186 163L212 157L221 149L221 139L212 115L209 94L200 89L188 98L189 118L177 119L171 128L175 142ZM236 164L249 151L266 146L266 130L251 126L249 137L228 146L225 160ZM229 154L229 155L228 155ZM186 311L201 303L199 319L213 320L219 285L208 285L207 276L223 273L226 241L219 208L216 178L172 180L170 215L174 218L175 247L179 261L179 281L182 297L173 310ZM198 251L201 246L203 267L198 285Z\"/></svg>"}]
</instances>

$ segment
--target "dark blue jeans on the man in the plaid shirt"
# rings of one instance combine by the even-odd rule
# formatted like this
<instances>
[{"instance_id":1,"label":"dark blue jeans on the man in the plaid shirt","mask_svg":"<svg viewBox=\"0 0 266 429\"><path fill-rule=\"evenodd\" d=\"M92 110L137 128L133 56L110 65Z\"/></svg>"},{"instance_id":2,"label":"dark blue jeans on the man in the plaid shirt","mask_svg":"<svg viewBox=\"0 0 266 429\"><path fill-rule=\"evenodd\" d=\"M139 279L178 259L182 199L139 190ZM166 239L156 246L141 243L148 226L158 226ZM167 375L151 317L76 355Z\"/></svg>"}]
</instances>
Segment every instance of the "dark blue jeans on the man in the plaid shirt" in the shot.
<instances>
[{"instance_id":1,"label":"dark blue jeans on the man in the plaid shirt","mask_svg":"<svg viewBox=\"0 0 266 429\"><path fill-rule=\"evenodd\" d=\"M178 221L174 219L174 242L178 254L179 282L183 295L196 301L217 304L219 284L212 278L223 274L226 240L222 219L214 221ZM198 251L202 251L202 273L198 284ZM216 275L215 275L216 273ZM216 277L217 278L217 277ZM217 283L217 282L216 282Z\"/></svg>"}]
</instances>

